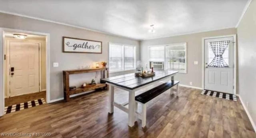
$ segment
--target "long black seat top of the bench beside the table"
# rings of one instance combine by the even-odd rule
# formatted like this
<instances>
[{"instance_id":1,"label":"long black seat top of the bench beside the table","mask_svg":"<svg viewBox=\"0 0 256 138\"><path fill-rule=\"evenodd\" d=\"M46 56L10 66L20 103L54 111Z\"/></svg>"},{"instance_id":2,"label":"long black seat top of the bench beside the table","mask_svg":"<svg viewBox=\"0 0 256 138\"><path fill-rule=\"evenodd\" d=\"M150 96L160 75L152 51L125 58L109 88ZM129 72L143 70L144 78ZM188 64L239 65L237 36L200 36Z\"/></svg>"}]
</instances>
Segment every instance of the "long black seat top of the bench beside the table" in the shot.
<instances>
[{"instance_id":1,"label":"long black seat top of the bench beside the table","mask_svg":"<svg viewBox=\"0 0 256 138\"><path fill-rule=\"evenodd\" d=\"M155 97L157 97L158 95L160 95L161 93L170 89L178 83L179 81L174 81L172 83L172 81L170 80L164 84L161 84L160 86L154 87L153 89L150 89L144 93L141 93L140 95L137 95L135 97L135 100L139 101L140 103L147 103L148 101L154 99Z\"/></svg>"}]
</instances>

